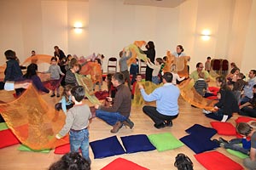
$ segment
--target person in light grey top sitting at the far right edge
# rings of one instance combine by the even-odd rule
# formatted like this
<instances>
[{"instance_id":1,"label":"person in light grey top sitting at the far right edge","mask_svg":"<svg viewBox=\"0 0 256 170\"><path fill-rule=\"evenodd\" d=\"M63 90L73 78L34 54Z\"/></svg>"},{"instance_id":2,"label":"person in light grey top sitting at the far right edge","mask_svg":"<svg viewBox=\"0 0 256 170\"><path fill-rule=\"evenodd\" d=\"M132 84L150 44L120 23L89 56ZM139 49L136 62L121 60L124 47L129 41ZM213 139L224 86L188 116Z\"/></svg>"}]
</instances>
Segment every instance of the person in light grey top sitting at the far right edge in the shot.
<instances>
[{"instance_id":1,"label":"person in light grey top sitting at the far right edge","mask_svg":"<svg viewBox=\"0 0 256 170\"><path fill-rule=\"evenodd\" d=\"M250 79L248 84L243 88L244 93L241 95L241 105L253 99L253 86L256 84L256 70L251 70L248 77Z\"/></svg>"}]
</instances>

